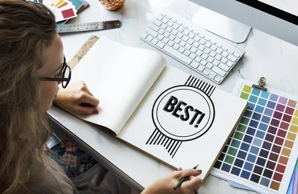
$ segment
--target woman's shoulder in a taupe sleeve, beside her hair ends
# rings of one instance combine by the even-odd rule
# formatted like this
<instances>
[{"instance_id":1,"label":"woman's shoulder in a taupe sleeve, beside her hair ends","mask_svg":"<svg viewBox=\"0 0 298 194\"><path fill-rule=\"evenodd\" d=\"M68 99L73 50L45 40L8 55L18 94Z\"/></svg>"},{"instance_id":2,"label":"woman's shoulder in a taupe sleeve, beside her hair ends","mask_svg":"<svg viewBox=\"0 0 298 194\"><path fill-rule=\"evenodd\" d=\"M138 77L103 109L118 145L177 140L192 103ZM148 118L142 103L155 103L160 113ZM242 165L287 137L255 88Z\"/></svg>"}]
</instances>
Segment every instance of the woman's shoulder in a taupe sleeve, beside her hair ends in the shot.
<instances>
[{"instance_id":1,"label":"woman's shoulder in a taupe sleeve, beside her hair ends","mask_svg":"<svg viewBox=\"0 0 298 194\"><path fill-rule=\"evenodd\" d=\"M51 158L43 155L46 166L44 178L33 184L30 188L32 194L78 194L72 181L66 176L61 167ZM40 160L33 167L32 178L37 173L42 173L42 163Z\"/></svg>"}]
</instances>

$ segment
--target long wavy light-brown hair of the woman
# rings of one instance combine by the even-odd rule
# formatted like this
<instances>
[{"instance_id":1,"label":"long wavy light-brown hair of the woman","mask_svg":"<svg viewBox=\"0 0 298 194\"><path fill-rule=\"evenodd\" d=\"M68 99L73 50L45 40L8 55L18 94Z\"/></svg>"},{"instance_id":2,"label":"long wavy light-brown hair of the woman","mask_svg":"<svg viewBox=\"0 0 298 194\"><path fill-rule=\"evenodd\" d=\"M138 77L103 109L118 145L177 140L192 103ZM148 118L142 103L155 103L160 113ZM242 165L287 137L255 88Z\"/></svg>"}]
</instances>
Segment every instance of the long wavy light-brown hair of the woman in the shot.
<instances>
[{"instance_id":1,"label":"long wavy light-brown hair of the woman","mask_svg":"<svg viewBox=\"0 0 298 194\"><path fill-rule=\"evenodd\" d=\"M41 161L37 149L49 134L41 108L37 71L57 35L54 14L43 4L0 0L0 193L28 192L32 169Z\"/></svg>"}]
</instances>

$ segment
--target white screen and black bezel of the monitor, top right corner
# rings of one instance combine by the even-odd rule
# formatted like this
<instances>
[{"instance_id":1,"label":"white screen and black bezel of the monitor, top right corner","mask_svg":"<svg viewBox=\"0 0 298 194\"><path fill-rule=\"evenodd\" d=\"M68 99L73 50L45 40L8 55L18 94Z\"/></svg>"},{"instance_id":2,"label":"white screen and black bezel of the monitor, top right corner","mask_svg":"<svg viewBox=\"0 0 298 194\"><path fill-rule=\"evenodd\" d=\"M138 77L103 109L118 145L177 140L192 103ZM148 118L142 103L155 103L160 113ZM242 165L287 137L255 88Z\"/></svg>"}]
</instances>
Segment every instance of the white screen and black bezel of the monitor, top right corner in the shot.
<instances>
[{"instance_id":1,"label":"white screen and black bezel of the monitor, top right corner","mask_svg":"<svg viewBox=\"0 0 298 194\"><path fill-rule=\"evenodd\" d=\"M298 25L298 0L237 0Z\"/></svg>"}]
</instances>

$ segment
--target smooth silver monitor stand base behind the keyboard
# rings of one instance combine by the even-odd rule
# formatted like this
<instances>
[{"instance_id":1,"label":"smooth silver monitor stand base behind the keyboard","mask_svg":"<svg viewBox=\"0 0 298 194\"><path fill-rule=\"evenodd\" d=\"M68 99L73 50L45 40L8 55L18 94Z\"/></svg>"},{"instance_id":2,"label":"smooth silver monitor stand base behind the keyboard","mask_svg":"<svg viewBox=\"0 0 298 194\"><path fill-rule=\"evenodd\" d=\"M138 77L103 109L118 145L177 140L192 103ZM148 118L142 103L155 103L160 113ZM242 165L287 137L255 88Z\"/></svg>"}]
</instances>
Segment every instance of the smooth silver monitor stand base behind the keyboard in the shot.
<instances>
[{"instance_id":1,"label":"smooth silver monitor stand base behind the keyboard","mask_svg":"<svg viewBox=\"0 0 298 194\"><path fill-rule=\"evenodd\" d=\"M235 43L244 42L251 27L202 7L193 15L193 23Z\"/></svg>"}]
</instances>

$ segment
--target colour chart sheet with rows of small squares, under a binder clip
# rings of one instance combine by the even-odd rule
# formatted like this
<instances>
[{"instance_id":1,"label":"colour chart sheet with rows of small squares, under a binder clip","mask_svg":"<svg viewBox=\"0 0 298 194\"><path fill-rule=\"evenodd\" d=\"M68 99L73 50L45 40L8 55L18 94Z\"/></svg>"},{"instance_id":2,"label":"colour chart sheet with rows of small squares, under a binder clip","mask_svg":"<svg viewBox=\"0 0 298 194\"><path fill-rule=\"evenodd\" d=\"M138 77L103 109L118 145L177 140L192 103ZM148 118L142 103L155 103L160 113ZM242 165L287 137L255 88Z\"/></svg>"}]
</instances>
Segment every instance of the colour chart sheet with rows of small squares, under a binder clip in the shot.
<instances>
[{"instance_id":1,"label":"colour chart sheet with rows of small squares, under a binder clip","mask_svg":"<svg viewBox=\"0 0 298 194\"><path fill-rule=\"evenodd\" d=\"M252 84L238 79L235 85L233 94L248 108L211 174L260 193L285 194L298 157L298 98Z\"/></svg>"}]
</instances>

